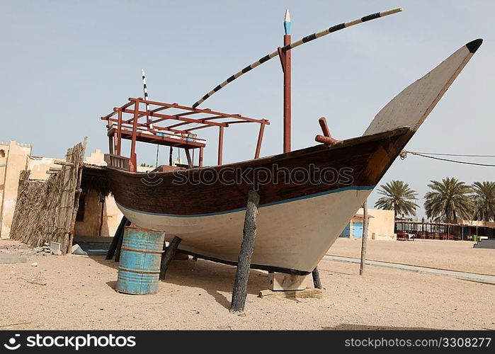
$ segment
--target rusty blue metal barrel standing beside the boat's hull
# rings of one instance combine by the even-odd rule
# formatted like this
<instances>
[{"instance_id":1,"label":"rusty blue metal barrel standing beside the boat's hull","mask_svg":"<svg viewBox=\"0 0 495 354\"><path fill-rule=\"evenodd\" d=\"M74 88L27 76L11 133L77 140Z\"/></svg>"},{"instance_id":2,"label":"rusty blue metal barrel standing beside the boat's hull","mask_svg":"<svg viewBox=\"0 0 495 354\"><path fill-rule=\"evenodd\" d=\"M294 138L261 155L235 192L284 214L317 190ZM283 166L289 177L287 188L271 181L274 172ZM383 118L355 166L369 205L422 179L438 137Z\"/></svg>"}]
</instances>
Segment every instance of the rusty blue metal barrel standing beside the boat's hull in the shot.
<instances>
[{"instance_id":1,"label":"rusty blue metal barrel standing beside the boat's hull","mask_svg":"<svg viewBox=\"0 0 495 354\"><path fill-rule=\"evenodd\" d=\"M118 267L118 292L157 293L164 237L163 232L125 227Z\"/></svg>"}]
</instances>

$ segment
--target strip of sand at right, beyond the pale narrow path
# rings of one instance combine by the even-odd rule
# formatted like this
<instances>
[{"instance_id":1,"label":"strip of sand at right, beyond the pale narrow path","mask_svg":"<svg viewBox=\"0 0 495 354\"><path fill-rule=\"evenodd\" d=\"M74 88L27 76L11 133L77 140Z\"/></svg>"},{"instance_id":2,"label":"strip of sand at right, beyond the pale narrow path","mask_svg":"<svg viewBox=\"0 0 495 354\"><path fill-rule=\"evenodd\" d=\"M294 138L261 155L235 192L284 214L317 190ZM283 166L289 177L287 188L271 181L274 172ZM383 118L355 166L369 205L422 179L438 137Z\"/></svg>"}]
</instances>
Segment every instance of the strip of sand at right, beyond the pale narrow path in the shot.
<instances>
[{"instance_id":1,"label":"strip of sand at right, beyond the pale narrow path","mask_svg":"<svg viewBox=\"0 0 495 354\"><path fill-rule=\"evenodd\" d=\"M495 275L495 249L474 249L472 241L368 240L366 258L423 267ZM361 239L337 239L332 256L360 258Z\"/></svg>"}]
</instances>

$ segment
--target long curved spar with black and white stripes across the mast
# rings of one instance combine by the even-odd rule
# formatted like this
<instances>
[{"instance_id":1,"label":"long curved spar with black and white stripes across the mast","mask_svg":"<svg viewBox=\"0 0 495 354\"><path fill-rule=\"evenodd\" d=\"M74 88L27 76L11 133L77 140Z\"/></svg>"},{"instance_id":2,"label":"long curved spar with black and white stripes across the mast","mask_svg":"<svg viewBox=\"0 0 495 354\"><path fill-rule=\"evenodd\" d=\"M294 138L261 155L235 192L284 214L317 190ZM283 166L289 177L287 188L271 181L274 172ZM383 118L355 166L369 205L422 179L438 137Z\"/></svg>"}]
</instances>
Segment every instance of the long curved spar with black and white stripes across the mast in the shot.
<instances>
[{"instance_id":1,"label":"long curved spar with black and white stripes across the mast","mask_svg":"<svg viewBox=\"0 0 495 354\"><path fill-rule=\"evenodd\" d=\"M320 32L313 33L312 35L307 35L306 37L298 40L297 42L292 42L292 43L290 43L290 45L285 45L284 47L280 48L280 50L282 50L283 52L285 52L287 50L294 49L295 47L299 47L300 45L302 45L304 43L310 42L310 41L315 40L317 38L321 38L324 35L328 35L330 33L334 33L334 32L336 32L338 30L343 30L343 28L351 27L351 25L358 25L359 23L363 23L363 22L375 20L375 18L380 18L380 17L385 17L385 16L393 15L394 13L398 13L398 12L401 12L401 11L402 11L402 8L400 8L400 7L399 8L392 8L392 10L387 10L387 11L372 13L371 15L358 18L357 20L340 23L338 25L331 26L330 28L327 28L326 30L322 30ZM234 81L239 76L242 76L242 75L246 74L246 72L249 72L251 69L254 69L255 67L258 67L258 65L261 65L264 62L268 62L268 60L273 59L276 56L278 56L278 50L275 50L275 52L273 52L273 53L271 53L269 55L265 55L264 57L262 57L261 59L257 60L253 64L248 65L247 67L245 67L244 69L242 69L240 72L237 72L237 74L234 74L234 75L230 76L229 79L223 81L222 84L220 84L217 87L215 87L215 89L212 89L212 91L208 92L207 94L205 94L205 96L203 96L203 98L201 98L196 103L194 103L193 104L193 108L198 107L198 105L200 105L201 103L205 102L208 98L210 98L213 95L213 93L215 93L217 91L220 91L220 89L222 89L222 87L224 87L227 84L229 84L230 82Z\"/></svg>"}]
</instances>

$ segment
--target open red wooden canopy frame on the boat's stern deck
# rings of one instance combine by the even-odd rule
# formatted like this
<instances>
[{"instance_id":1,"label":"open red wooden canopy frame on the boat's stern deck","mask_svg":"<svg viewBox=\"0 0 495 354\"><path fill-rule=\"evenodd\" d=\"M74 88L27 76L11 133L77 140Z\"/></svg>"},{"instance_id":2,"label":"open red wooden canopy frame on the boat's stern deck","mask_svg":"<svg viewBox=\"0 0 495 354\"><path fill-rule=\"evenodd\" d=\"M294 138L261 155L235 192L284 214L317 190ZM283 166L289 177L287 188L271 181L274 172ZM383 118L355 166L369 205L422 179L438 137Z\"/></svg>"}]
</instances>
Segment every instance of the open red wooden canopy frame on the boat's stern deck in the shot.
<instances>
[{"instance_id":1,"label":"open red wooden canopy frame on the boat's stern deck","mask_svg":"<svg viewBox=\"0 0 495 354\"><path fill-rule=\"evenodd\" d=\"M146 110L146 105L149 105L149 110ZM141 110L140 108L144 109ZM164 110L169 110L168 114L159 113ZM137 171L136 142L179 147L186 149L186 154L188 154L189 149L200 149L198 166L203 166L203 149L206 147L206 140L196 137L193 131L207 127L219 128L218 164L221 165L224 128L238 123L255 122L260 125L254 154L254 158L258 159L265 125L270 124L265 119L220 113L209 108L186 107L177 103L147 101L143 98L129 98L129 102L113 108L113 112L101 117L101 120L107 121L106 127L111 155L121 156L122 139L131 140L130 170L133 172Z\"/></svg>"}]
</instances>

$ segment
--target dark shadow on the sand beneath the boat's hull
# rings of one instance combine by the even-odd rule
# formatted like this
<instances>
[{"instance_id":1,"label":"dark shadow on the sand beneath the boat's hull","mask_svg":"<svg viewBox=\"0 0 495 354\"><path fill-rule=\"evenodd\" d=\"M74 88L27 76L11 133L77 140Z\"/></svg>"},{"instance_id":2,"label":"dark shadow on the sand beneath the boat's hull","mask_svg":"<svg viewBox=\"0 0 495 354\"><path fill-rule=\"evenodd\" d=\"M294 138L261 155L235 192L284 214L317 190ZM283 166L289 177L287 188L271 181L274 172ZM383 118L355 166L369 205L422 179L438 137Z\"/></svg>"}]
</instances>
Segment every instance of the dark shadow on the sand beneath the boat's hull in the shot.
<instances>
[{"instance_id":1,"label":"dark shadow on the sand beneath the boat's hull","mask_svg":"<svg viewBox=\"0 0 495 354\"><path fill-rule=\"evenodd\" d=\"M118 269L118 263L115 263L113 260L106 260L104 256L89 256L89 258L115 270ZM173 260L166 272L165 279L160 280L158 291L167 291L166 287L164 288L166 284L199 288L212 296L223 307L229 309L235 274L236 267L233 265L213 263L202 259L193 261L192 258L188 260ZM267 289L267 279L267 272L251 269L247 287L248 295L258 295L261 290ZM106 284L112 289L115 289L115 285L117 284L116 277L115 280L108 281ZM200 294L201 291L198 291L198 296Z\"/></svg>"}]
</instances>

